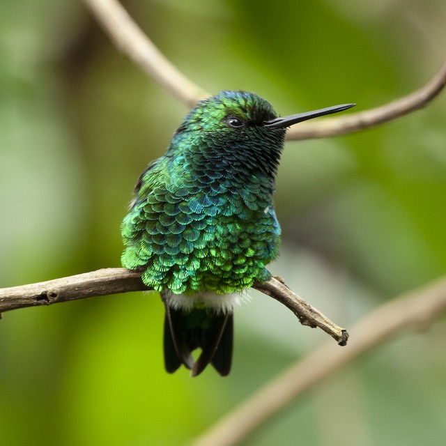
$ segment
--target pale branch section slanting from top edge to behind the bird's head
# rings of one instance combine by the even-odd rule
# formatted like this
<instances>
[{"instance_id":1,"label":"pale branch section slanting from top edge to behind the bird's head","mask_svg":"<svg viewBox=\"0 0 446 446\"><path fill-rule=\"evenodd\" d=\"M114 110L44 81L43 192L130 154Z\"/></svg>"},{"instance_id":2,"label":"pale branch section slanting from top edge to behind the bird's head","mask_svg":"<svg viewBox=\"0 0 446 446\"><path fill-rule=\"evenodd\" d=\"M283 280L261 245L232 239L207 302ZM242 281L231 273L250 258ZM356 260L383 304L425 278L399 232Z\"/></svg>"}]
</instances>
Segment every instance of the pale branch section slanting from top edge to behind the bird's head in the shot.
<instances>
[{"instance_id":1,"label":"pale branch section slanting from top edge to behind the bird's head","mask_svg":"<svg viewBox=\"0 0 446 446\"><path fill-rule=\"evenodd\" d=\"M160 52L116 0L84 0L116 47L187 107L209 96Z\"/></svg>"}]
</instances>

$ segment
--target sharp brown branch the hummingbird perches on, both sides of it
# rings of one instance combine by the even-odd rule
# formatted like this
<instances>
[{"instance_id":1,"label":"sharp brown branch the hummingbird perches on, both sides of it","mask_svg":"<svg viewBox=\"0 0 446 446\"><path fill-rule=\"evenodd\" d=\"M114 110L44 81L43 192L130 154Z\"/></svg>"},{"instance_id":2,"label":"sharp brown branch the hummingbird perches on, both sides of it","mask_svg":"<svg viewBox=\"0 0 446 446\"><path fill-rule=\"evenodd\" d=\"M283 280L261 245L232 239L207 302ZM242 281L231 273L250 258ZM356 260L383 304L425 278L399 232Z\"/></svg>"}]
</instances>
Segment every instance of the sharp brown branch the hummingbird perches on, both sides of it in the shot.
<instances>
[{"instance_id":1,"label":"sharp brown branch the hummingbird perches on, both sides of it","mask_svg":"<svg viewBox=\"0 0 446 446\"><path fill-rule=\"evenodd\" d=\"M280 280L272 277L268 282L254 284L253 288L286 305L298 316L302 325L319 327L330 334L339 345L346 345L348 339L346 330L332 323ZM0 314L24 307L38 307L68 300L142 290L150 289L141 282L140 272L125 268L104 268L47 282L0 289Z\"/></svg>"}]
</instances>

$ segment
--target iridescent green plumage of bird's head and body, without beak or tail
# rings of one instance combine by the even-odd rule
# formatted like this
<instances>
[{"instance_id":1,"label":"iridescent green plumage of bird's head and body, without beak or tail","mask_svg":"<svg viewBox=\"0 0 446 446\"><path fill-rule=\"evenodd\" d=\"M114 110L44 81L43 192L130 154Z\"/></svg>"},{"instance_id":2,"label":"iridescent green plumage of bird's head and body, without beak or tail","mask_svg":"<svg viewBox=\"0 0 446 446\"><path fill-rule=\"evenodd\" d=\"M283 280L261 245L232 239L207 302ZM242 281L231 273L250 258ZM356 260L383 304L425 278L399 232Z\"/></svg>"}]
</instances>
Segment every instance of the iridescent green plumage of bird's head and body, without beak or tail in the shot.
<instances>
[{"instance_id":1,"label":"iridescent green plumage of bird's head and body, without beak or tail","mask_svg":"<svg viewBox=\"0 0 446 446\"><path fill-rule=\"evenodd\" d=\"M230 127L228 116L249 125ZM279 243L272 193L285 130L260 126L275 116L252 93L202 101L139 180L122 225L123 266L177 294L234 293L268 279Z\"/></svg>"}]
</instances>

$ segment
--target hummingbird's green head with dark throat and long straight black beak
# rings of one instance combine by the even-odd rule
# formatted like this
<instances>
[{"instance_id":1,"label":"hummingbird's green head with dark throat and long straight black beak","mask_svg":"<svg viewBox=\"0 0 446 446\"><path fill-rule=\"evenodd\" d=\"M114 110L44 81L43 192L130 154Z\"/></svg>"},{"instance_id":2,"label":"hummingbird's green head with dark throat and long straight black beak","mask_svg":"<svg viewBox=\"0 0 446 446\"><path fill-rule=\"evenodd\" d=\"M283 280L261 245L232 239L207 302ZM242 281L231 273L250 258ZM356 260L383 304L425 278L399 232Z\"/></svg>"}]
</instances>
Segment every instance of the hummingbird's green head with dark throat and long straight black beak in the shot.
<instances>
[{"instance_id":1,"label":"hummingbird's green head with dark throat and long straight black beak","mask_svg":"<svg viewBox=\"0 0 446 446\"><path fill-rule=\"evenodd\" d=\"M286 128L294 123L340 112L353 105L338 105L314 112L277 117L270 103L246 91L220 91L198 102L180 125L174 140L245 169L275 175L284 146Z\"/></svg>"}]
</instances>

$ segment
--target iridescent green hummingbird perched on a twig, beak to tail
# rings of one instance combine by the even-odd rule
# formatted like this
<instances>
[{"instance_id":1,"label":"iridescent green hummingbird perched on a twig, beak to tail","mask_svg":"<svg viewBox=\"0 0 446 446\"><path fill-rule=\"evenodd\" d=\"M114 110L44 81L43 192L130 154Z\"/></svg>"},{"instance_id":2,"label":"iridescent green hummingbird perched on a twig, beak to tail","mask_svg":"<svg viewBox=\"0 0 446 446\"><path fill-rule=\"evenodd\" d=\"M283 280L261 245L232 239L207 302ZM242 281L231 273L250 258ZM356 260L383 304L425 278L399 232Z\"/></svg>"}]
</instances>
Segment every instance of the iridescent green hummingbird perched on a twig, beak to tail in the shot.
<instances>
[{"instance_id":1,"label":"iridescent green hummingbird perched on a twig, beak to tail","mask_svg":"<svg viewBox=\"0 0 446 446\"><path fill-rule=\"evenodd\" d=\"M246 91L201 100L148 164L121 225L123 267L164 302L164 365L231 370L233 310L271 274L280 226L272 195L286 128L355 104L279 117ZM201 353L194 359L192 353Z\"/></svg>"}]
</instances>

